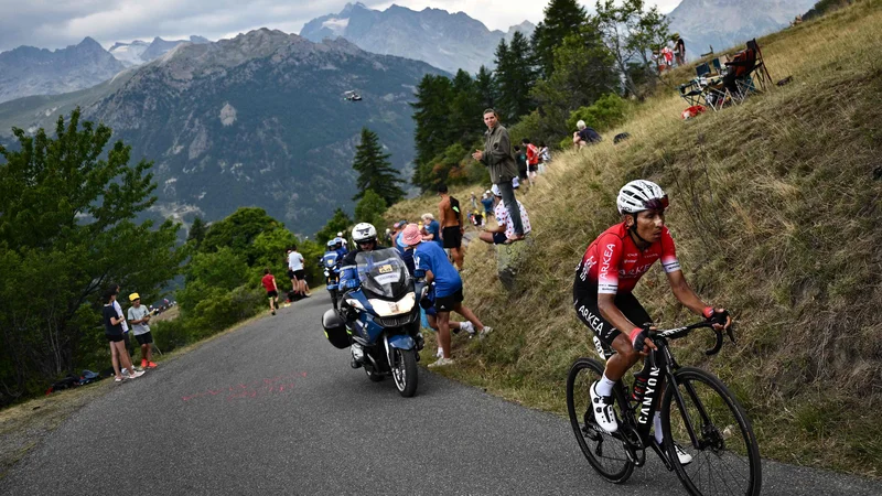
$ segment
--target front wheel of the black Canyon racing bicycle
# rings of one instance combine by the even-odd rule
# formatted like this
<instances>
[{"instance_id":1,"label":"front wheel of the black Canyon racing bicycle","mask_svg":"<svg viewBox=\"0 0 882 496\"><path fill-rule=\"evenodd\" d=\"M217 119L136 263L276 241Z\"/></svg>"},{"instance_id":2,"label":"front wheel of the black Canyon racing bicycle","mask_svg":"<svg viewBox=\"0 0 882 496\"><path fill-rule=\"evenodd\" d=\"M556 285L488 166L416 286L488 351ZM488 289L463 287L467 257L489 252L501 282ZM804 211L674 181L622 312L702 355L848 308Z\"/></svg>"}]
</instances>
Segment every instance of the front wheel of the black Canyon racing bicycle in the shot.
<instances>
[{"instance_id":1,"label":"front wheel of the black Canyon racing bicycle","mask_svg":"<svg viewBox=\"0 0 882 496\"><path fill-rule=\"evenodd\" d=\"M760 448L738 399L706 370L684 367L674 377L682 403L668 385L662 428L665 450L684 486L693 495L759 495ZM675 442L692 456L691 463L678 462Z\"/></svg>"}]
</instances>

